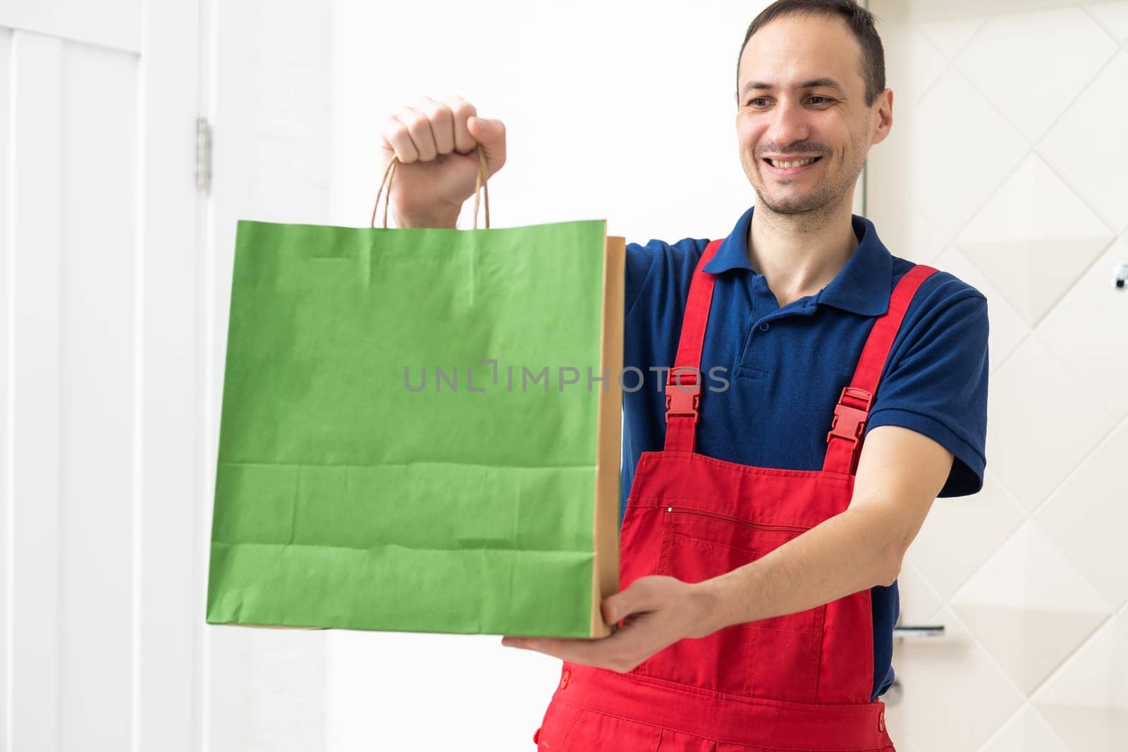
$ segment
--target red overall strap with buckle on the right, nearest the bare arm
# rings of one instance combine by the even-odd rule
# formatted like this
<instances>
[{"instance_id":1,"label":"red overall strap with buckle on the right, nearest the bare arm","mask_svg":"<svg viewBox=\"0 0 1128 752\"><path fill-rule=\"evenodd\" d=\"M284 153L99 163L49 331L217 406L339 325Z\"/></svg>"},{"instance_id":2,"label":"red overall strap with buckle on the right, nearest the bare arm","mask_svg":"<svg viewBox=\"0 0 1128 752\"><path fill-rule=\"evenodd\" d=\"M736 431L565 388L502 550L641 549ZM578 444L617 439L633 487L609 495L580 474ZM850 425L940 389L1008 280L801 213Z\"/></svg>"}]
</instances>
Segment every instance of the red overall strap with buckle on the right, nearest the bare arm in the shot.
<instances>
[{"instance_id":1,"label":"red overall strap with buckle on the right, nearest the bare arm","mask_svg":"<svg viewBox=\"0 0 1128 752\"><path fill-rule=\"evenodd\" d=\"M862 356L854 370L849 386L843 389L835 406L835 417L827 434L827 457L822 462L823 472L854 475L857 459L862 454L865 422L870 417L873 396L878 391L881 372L885 369L889 351L893 346L898 329L905 319L913 297L920 283L936 269L917 264L909 269L893 289L889 298L889 310L878 317L870 336L862 348Z\"/></svg>"}]
</instances>

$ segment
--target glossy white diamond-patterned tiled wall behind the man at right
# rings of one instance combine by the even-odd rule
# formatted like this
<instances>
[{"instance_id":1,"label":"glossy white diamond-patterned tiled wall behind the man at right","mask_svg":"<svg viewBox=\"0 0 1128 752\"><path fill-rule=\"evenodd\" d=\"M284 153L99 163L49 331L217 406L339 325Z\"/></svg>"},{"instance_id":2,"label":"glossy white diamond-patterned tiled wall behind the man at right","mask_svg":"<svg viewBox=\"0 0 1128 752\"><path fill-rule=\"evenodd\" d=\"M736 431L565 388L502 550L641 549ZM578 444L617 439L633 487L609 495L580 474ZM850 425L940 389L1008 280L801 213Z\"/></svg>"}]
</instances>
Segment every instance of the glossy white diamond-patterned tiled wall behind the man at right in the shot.
<instances>
[{"instance_id":1,"label":"glossy white diamond-patterned tiled wall behind the man at right","mask_svg":"<svg viewBox=\"0 0 1128 752\"><path fill-rule=\"evenodd\" d=\"M1128 2L873 0L867 213L989 301L987 479L900 577L902 752L1128 750ZM899 697L899 701L896 698Z\"/></svg>"}]
</instances>

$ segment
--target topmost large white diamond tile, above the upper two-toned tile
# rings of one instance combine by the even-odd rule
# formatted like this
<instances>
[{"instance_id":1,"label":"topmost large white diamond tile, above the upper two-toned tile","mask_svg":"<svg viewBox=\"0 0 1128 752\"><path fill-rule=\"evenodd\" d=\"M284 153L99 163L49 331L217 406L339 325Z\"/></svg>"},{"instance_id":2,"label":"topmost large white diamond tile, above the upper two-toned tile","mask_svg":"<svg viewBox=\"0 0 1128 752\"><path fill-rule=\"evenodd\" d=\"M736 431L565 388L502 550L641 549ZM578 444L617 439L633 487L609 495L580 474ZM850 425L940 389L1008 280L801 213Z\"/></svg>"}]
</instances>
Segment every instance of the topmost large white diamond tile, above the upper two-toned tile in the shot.
<instances>
[{"instance_id":1,"label":"topmost large white diamond tile, above the upper two-toned tile","mask_svg":"<svg viewBox=\"0 0 1128 752\"><path fill-rule=\"evenodd\" d=\"M1026 136L1037 141L1068 106L1075 90L1117 52L1079 8L992 16L960 53L957 65ZM1069 50L1048 55L1047 50Z\"/></svg>"}]
</instances>

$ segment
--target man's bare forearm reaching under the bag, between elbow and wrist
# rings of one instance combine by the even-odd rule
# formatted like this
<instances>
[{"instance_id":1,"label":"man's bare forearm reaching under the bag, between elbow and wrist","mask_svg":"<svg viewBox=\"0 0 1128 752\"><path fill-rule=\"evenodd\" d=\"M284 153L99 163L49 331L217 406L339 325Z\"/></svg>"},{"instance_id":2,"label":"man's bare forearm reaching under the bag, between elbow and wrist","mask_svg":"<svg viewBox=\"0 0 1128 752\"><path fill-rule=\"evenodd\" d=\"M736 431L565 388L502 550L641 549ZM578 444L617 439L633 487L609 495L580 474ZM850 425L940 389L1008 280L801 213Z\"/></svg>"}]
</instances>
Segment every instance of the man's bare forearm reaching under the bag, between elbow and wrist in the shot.
<instances>
[{"instance_id":1,"label":"man's bare forearm reaching under the bag, between elbow and wrist","mask_svg":"<svg viewBox=\"0 0 1128 752\"><path fill-rule=\"evenodd\" d=\"M888 585L900 566L902 540L881 505L830 517L767 556L702 583L712 596L706 634Z\"/></svg>"}]
</instances>

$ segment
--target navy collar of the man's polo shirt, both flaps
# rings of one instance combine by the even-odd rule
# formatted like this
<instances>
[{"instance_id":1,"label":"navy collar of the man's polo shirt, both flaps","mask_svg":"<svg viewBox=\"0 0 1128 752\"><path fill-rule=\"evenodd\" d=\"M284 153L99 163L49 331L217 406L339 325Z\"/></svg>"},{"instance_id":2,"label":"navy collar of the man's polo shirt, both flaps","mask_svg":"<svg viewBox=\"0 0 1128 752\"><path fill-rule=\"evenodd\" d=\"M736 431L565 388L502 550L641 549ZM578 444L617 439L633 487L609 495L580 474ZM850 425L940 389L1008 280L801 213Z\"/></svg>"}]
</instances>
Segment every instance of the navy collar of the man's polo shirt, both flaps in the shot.
<instances>
[{"instance_id":1,"label":"navy collar of the man's polo shirt, both flaps","mask_svg":"<svg viewBox=\"0 0 1128 752\"><path fill-rule=\"evenodd\" d=\"M703 271L722 274L731 269L748 269L758 274L748 260L748 230L752 224L755 209L756 206L750 206L741 215ZM851 215L851 222L854 235L858 238L858 246L830 284L814 295L813 302L862 316L881 316L889 310L893 258L878 237L873 222L857 214Z\"/></svg>"}]
</instances>

